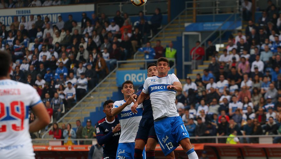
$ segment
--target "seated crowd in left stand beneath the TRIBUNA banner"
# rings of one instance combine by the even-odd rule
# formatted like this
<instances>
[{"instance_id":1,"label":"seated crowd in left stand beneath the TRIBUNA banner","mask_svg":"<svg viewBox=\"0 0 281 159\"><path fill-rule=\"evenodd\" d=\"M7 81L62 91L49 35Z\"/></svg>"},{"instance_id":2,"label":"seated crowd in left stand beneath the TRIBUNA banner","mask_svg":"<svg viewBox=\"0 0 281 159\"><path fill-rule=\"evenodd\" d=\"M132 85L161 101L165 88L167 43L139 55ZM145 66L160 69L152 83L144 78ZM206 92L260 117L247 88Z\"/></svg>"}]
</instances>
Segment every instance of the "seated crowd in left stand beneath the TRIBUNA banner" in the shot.
<instances>
[{"instance_id":1,"label":"seated crowd in left stand beneath the TRIBUNA banner","mask_svg":"<svg viewBox=\"0 0 281 159\"><path fill-rule=\"evenodd\" d=\"M81 26L72 15L62 19L52 23L49 17L30 15L29 21L15 16L10 26L0 22L0 50L12 56L11 79L37 89L54 121L113 70L117 60L131 58L150 32L158 31L162 15L156 8L148 21L141 11L135 26L120 11L111 20L105 13L82 13Z\"/></svg>"}]
</instances>

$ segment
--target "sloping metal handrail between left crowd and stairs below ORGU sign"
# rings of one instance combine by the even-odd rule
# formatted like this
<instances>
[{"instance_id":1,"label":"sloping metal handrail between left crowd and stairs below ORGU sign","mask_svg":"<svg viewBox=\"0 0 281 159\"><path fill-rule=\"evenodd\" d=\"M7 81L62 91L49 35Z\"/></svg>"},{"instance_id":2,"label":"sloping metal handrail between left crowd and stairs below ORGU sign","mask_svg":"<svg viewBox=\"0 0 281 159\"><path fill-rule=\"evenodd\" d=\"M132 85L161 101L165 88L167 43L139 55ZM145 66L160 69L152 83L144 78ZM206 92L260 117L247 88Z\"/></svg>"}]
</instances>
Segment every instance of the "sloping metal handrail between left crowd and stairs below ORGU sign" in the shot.
<instances>
[{"instance_id":1,"label":"sloping metal handrail between left crowd and stairs below ORGU sign","mask_svg":"<svg viewBox=\"0 0 281 159\"><path fill-rule=\"evenodd\" d=\"M117 70L117 67L112 70L103 80L101 80L101 82L99 84L96 85L95 88L93 88L88 94L86 94L78 103L76 103L67 113L65 113L58 121L57 123L59 123L60 121L62 121L74 108L76 108L84 99L86 99L94 90L96 90L97 88L99 88L99 86L108 78L112 75L112 73L114 73ZM89 104L88 104L89 105ZM87 105L87 106L88 106ZM86 106L84 106L86 107ZM80 112L80 111L79 111ZM77 115L78 113L76 113L75 115ZM72 118L71 118L72 119ZM45 135L51 130L52 128L50 127L43 135L42 138L45 137Z\"/></svg>"}]
</instances>

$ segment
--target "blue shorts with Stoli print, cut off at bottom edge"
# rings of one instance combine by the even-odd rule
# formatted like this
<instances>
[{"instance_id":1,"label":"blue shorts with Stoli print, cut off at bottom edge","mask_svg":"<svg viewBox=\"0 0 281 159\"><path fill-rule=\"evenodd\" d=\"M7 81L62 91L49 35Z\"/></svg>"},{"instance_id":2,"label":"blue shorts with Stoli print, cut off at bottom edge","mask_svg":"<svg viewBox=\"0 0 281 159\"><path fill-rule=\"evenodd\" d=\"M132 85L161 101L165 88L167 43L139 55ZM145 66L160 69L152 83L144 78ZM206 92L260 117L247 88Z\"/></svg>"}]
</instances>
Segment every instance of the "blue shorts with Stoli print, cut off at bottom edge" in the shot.
<instances>
[{"instance_id":1,"label":"blue shorts with Stoli print, cut off at bottom edge","mask_svg":"<svg viewBox=\"0 0 281 159\"><path fill-rule=\"evenodd\" d=\"M134 159L135 142L119 143L116 153L116 159ZM145 150L142 153L143 159L146 158Z\"/></svg>"}]
</instances>

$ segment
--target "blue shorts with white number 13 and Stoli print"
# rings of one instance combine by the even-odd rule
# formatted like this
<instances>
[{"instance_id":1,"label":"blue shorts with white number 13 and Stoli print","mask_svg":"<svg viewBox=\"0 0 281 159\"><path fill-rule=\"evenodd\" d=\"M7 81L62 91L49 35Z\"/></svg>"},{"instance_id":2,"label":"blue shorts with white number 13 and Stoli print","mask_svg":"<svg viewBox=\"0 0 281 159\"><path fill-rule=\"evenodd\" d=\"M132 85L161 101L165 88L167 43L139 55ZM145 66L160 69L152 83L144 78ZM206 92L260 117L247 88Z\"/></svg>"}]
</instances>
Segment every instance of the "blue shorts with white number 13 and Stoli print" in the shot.
<instances>
[{"instance_id":1,"label":"blue shorts with white number 13 and Stoli print","mask_svg":"<svg viewBox=\"0 0 281 159\"><path fill-rule=\"evenodd\" d=\"M189 138L189 134L180 116L166 117L155 121L154 128L165 156L169 155L179 146L180 140Z\"/></svg>"}]
</instances>

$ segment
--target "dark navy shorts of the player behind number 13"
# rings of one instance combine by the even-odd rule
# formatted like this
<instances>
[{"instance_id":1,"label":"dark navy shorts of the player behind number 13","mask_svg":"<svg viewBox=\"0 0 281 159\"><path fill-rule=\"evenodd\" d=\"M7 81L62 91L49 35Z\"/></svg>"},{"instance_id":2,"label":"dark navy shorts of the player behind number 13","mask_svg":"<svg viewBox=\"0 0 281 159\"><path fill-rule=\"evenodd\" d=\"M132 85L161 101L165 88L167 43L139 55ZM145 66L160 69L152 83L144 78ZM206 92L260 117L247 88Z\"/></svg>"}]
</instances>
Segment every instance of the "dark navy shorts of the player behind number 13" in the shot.
<instances>
[{"instance_id":1,"label":"dark navy shorts of the player behind number 13","mask_svg":"<svg viewBox=\"0 0 281 159\"><path fill-rule=\"evenodd\" d=\"M157 140L154 129L154 120L153 118L142 118L135 140L143 140L146 143L148 138Z\"/></svg>"}]
</instances>

